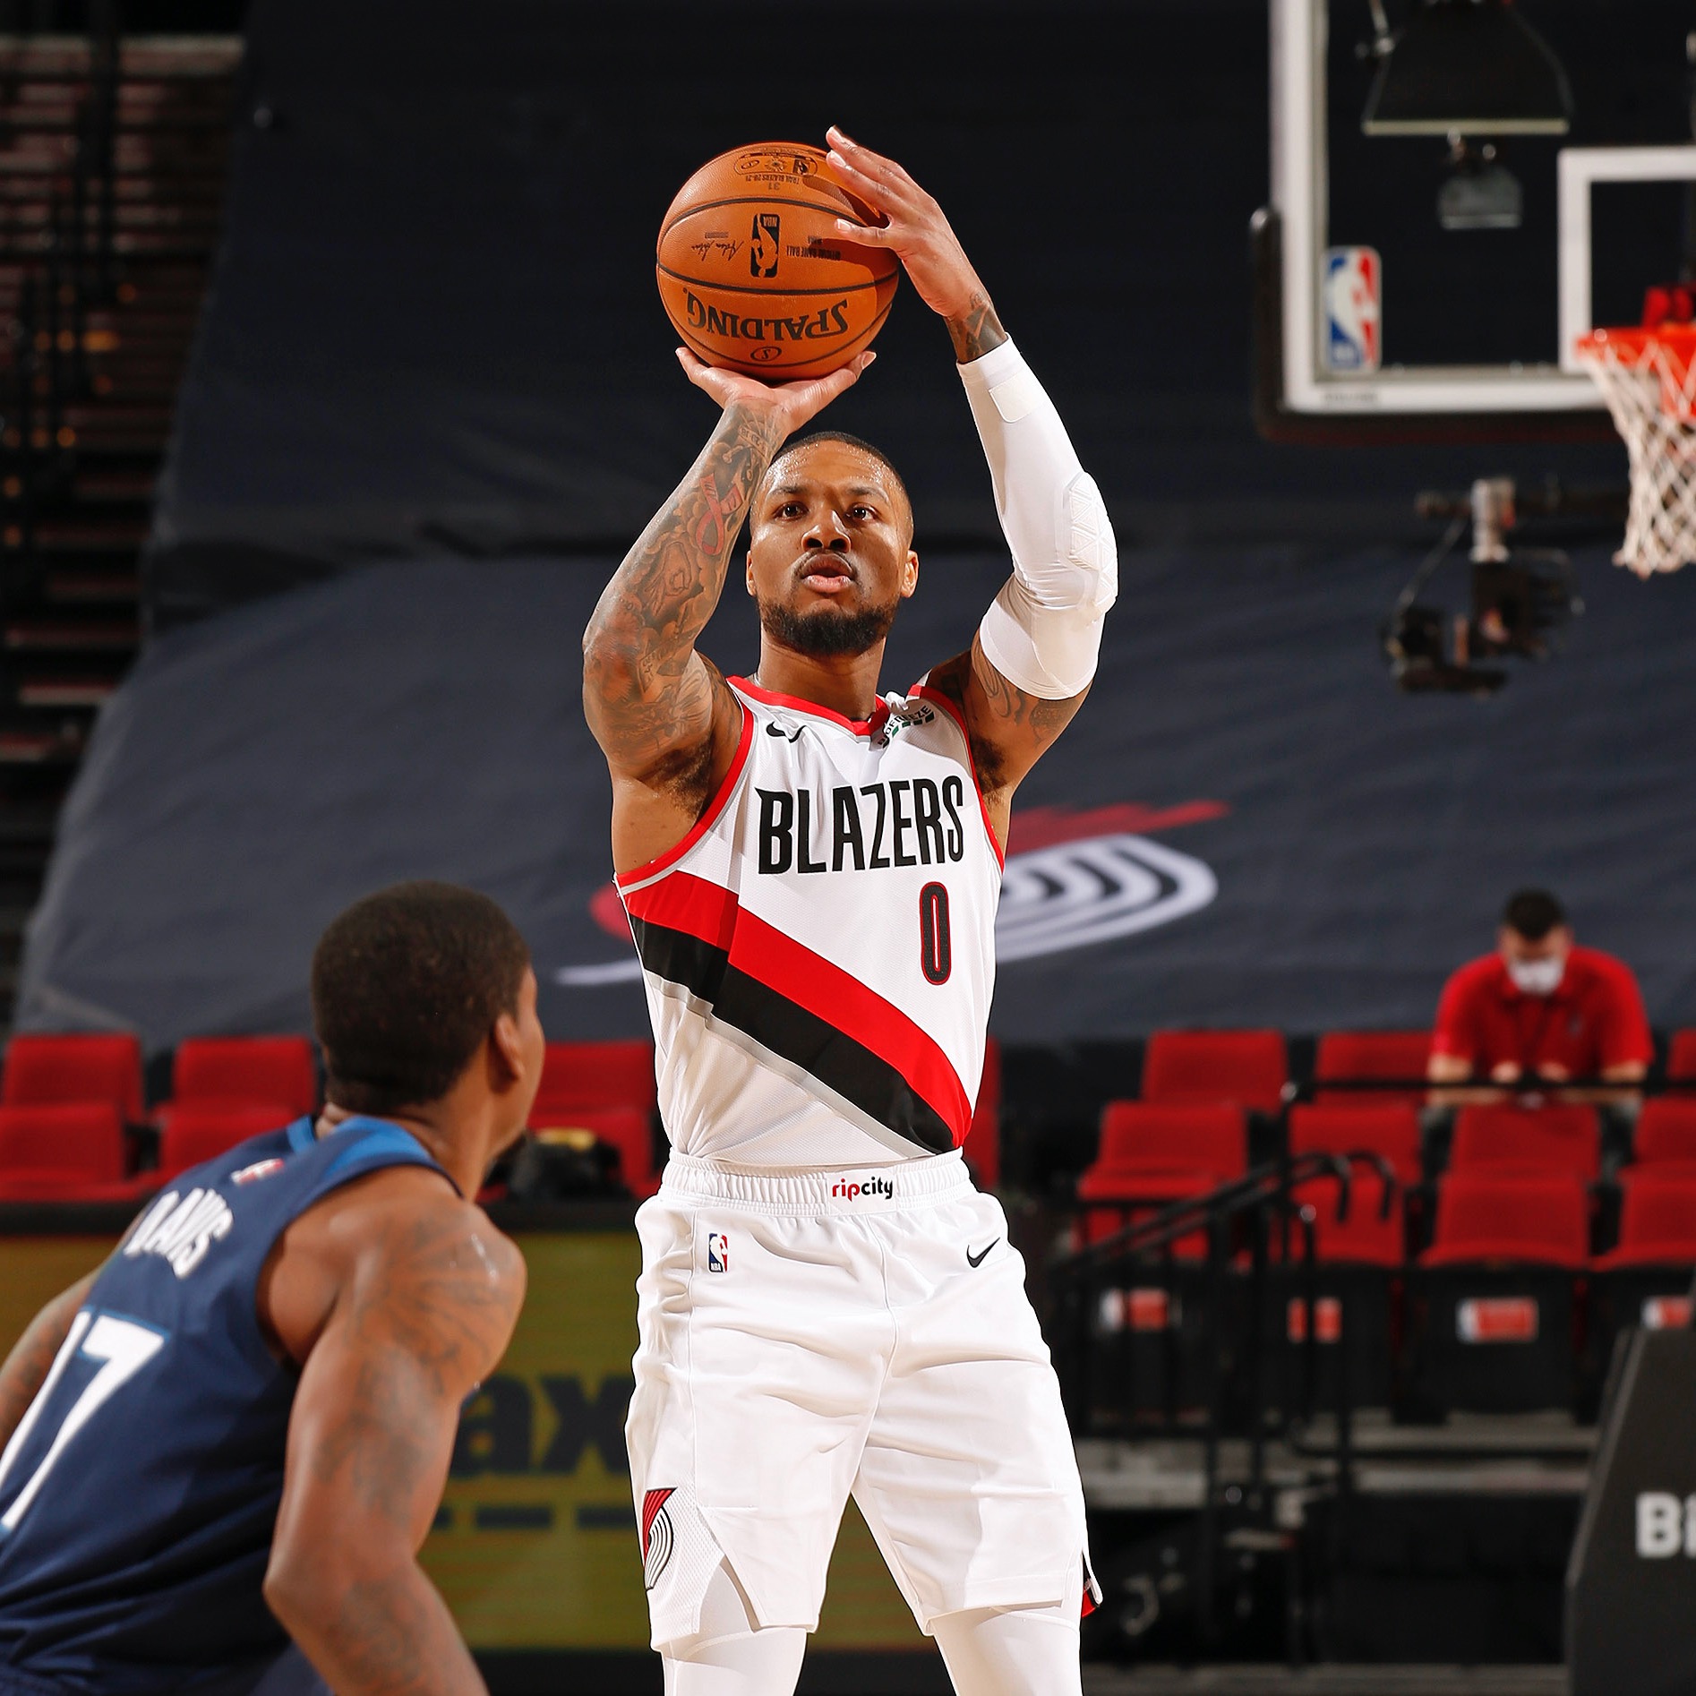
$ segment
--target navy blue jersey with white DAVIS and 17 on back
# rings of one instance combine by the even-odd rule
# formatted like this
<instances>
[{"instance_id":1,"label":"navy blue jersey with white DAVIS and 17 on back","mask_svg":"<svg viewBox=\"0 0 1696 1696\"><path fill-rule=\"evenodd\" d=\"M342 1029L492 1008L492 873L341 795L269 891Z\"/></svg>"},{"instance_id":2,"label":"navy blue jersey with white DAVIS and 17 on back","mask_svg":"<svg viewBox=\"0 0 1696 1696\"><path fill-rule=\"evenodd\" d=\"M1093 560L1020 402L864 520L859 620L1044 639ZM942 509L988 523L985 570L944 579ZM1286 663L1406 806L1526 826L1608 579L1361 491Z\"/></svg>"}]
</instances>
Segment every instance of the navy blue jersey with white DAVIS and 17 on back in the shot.
<instances>
[{"instance_id":1,"label":"navy blue jersey with white DAVIS and 17 on back","mask_svg":"<svg viewBox=\"0 0 1696 1696\"><path fill-rule=\"evenodd\" d=\"M390 1165L441 1172L385 1119L297 1119L131 1228L0 1452L0 1693L253 1689L288 1649L261 1581L298 1372L259 1330L259 1270Z\"/></svg>"}]
</instances>

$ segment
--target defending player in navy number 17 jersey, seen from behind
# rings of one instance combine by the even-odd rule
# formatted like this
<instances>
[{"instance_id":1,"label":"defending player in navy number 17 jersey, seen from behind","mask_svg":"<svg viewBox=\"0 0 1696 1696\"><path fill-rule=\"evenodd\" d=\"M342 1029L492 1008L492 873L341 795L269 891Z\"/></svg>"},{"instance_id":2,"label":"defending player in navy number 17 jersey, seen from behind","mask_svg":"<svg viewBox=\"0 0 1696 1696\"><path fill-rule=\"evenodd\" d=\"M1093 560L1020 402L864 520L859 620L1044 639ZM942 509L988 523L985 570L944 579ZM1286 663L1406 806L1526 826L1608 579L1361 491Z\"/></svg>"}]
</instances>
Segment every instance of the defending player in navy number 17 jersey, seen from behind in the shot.
<instances>
[{"instance_id":1,"label":"defending player in navy number 17 jersey, seen from behind","mask_svg":"<svg viewBox=\"0 0 1696 1696\"><path fill-rule=\"evenodd\" d=\"M468 1197L541 1082L536 977L492 901L400 884L312 1007L317 1124L175 1179L0 1369L0 1696L483 1689L416 1557L524 1299Z\"/></svg>"}]
</instances>

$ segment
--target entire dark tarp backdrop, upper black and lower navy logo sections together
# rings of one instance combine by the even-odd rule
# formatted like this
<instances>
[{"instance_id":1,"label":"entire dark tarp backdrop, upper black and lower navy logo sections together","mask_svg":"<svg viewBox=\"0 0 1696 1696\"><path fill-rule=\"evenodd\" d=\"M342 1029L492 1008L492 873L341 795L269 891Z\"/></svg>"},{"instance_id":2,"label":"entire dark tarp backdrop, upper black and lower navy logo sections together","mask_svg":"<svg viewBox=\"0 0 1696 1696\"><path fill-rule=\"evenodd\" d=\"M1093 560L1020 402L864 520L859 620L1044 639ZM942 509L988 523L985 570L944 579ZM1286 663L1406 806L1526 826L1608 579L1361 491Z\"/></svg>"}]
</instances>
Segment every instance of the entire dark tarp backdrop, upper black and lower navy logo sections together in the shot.
<instances>
[{"instance_id":1,"label":"entire dark tarp backdrop, upper black and lower navy logo sections together","mask_svg":"<svg viewBox=\"0 0 1696 1696\"><path fill-rule=\"evenodd\" d=\"M1094 695L1019 797L997 1035L1425 1024L1526 882L1632 962L1657 1024L1696 1018L1696 582L1593 544L1564 655L1487 702L1394 694L1375 633L1431 539L1414 490L1616 480L1623 453L1255 438L1265 78L1262 0L872 5L851 49L767 5L495 0L466 27L258 0L156 639L63 817L22 1023L149 1048L304 1028L322 921L436 873L521 919L558 1035L644 1029L577 655L712 419L653 236L711 153L831 119L950 210L1121 543ZM906 687L965 646L1006 556L911 287L879 354L829 421L914 492L924 580L884 677ZM704 650L753 663L734 585Z\"/></svg>"}]
</instances>

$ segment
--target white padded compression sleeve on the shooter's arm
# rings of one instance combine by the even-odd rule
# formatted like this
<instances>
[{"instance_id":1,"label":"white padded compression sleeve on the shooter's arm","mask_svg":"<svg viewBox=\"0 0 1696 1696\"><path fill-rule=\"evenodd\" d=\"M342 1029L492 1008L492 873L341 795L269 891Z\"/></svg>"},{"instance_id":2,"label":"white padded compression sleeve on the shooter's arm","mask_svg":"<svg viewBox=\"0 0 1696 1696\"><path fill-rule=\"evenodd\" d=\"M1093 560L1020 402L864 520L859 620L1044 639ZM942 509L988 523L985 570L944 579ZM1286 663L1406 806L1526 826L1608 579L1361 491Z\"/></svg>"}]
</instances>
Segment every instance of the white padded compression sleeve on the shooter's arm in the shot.
<instances>
[{"instance_id":1,"label":"white padded compression sleeve on the shooter's arm","mask_svg":"<svg viewBox=\"0 0 1696 1696\"><path fill-rule=\"evenodd\" d=\"M1013 550L979 641L1007 682L1065 700L1096 675L1101 624L1119 592L1113 524L1055 404L1011 341L960 366Z\"/></svg>"}]
</instances>

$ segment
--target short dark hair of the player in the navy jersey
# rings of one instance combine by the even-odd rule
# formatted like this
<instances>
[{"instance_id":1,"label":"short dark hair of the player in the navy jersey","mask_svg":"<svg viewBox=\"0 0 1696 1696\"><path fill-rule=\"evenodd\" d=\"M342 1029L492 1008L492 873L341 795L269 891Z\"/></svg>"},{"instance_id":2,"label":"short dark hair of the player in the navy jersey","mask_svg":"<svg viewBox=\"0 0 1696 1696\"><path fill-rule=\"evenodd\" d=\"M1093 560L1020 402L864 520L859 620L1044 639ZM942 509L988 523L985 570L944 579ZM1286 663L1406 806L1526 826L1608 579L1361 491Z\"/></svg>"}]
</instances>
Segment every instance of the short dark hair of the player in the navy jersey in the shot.
<instances>
[{"instance_id":1,"label":"short dark hair of the player in the navy jersey","mask_svg":"<svg viewBox=\"0 0 1696 1696\"><path fill-rule=\"evenodd\" d=\"M351 1113L439 1101L517 1013L527 967L517 926L475 889L419 880L356 901L312 951L327 1099Z\"/></svg>"}]
</instances>

